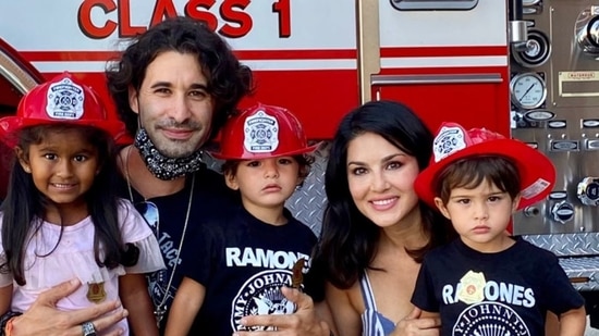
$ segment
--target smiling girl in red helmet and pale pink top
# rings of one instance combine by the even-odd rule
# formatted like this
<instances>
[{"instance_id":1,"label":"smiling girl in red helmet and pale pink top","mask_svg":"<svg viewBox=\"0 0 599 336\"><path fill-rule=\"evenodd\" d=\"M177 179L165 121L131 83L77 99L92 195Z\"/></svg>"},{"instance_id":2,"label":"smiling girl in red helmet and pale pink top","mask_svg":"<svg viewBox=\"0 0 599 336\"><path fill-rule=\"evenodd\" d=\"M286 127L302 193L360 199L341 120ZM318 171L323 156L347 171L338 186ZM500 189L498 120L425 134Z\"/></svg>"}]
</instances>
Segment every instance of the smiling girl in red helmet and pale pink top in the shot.
<instances>
[{"instance_id":1,"label":"smiling girl in red helmet and pale pink top","mask_svg":"<svg viewBox=\"0 0 599 336\"><path fill-rule=\"evenodd\" d=\"M2 313L25 311L41 291L76 277L83 286L59 309L121 300L135 335L158 335L144 276L164 267L158 242L114 196L113 138L123 130L69 73L35 87L16 116L0 120L0 138L16 155L0 213ZM106 333L117 328L127 335L127 321ZM89 322L82 329L96 335Z\"/></svg>"}]
</instances>

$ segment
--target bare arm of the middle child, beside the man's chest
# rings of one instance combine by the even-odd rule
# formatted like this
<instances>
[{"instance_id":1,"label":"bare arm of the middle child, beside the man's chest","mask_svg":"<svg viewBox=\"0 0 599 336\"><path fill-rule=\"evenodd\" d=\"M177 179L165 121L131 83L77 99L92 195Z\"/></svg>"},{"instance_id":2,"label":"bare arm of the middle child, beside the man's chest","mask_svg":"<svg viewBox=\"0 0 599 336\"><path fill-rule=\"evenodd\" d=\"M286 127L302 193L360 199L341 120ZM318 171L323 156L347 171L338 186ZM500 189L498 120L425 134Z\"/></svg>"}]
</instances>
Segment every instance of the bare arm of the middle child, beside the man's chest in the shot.
<instances>
[{"instance_id":1,"label":"bare arm of the middle child, beside the man's chest","mask_svg":"<svg viewBox=\"0 0 599 336\"><path fill-rule=\"evenodd\" d=\"M164 336L187 335L205 297L206 287L204 285L188 277L183 277L174 296Z\"/></svg>"}]
</instances>

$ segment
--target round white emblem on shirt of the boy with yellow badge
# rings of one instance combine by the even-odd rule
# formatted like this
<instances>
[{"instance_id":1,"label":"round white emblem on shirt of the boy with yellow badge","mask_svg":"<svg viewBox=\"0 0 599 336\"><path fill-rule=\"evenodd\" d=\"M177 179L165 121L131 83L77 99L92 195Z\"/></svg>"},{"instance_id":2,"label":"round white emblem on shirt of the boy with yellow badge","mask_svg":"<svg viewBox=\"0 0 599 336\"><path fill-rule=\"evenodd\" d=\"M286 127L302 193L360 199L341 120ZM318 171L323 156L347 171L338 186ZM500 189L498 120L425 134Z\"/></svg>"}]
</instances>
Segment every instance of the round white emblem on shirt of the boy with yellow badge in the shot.
<instances>
[{"instance_id":1,"label":"round white emblem on shirt of the boy with yellow badge","mask_svg":"<svg viewBox=\"0 0 599 336\"><path fill-rule=\"evenodd\" d=\"M460 314L452 335L530 336L530 332L512 308L499 302L480 302L469 306Z\"/></svg>"}]
</instances>

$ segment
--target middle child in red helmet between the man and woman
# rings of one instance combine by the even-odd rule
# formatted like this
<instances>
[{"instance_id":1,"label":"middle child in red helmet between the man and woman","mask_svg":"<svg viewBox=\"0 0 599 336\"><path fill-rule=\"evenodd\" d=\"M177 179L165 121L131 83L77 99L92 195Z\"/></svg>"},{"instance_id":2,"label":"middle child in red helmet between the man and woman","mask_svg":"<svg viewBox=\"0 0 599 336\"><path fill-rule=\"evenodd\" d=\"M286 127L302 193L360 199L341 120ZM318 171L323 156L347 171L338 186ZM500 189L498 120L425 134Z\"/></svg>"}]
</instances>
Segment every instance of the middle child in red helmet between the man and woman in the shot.
<instances>
[{"instance_id":1,"label":"middle child in red helmet between the man and woman","mask_svg":"<svg viewBox=\"0 0 599 336\"><path fill-rule=\"evenodd\" d=\"M314 149L282 108L258 104L228 121L213 155L227 160L224 181L241 204L186 242L166 335L231 335L244 329L245 315L294 312L279 288L301 286L316 236L284 202L307 176Z\"/></svg>"}]
</instances>

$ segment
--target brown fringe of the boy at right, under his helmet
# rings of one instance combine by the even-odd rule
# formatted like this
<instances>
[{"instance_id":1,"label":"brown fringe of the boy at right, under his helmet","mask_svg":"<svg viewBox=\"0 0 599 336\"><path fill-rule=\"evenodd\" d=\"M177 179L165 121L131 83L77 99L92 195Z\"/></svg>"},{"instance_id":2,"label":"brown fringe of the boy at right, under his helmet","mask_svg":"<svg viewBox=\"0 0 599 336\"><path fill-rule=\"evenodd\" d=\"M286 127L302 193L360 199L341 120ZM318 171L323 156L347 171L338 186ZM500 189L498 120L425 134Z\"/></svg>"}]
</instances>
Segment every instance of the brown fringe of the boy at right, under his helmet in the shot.
<instances>
[{"instance_id":1,"label":"brown fringe of the boy at right, under his helmet","mask_svg":"<svg viewBox=\"0 0 599 336\"><path fill-rule=\"evenodd\" d=\"M432 186L435 195L447 204L451 190L474 189L484 182L496 185L512 199L521 191L521 178L515 163L499 155L477 155L452 162L435 177Z\"/></svg>"}]
</instances>

